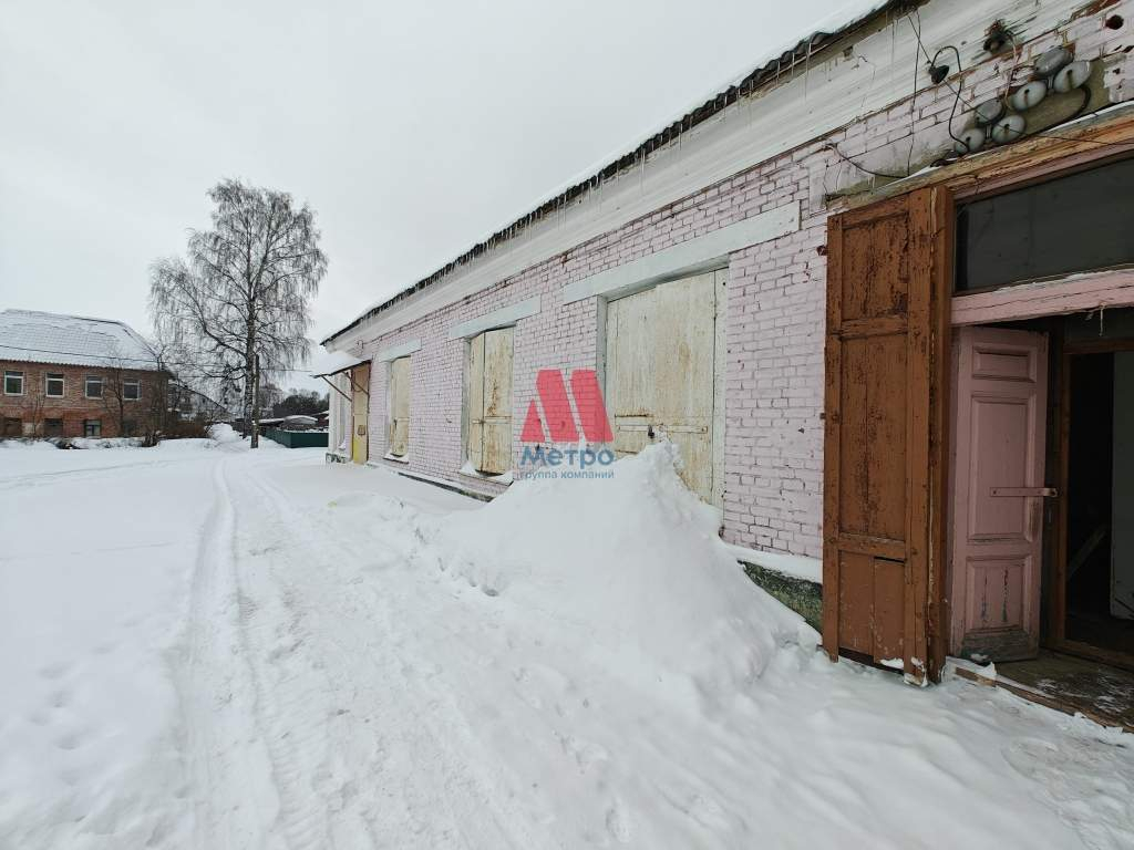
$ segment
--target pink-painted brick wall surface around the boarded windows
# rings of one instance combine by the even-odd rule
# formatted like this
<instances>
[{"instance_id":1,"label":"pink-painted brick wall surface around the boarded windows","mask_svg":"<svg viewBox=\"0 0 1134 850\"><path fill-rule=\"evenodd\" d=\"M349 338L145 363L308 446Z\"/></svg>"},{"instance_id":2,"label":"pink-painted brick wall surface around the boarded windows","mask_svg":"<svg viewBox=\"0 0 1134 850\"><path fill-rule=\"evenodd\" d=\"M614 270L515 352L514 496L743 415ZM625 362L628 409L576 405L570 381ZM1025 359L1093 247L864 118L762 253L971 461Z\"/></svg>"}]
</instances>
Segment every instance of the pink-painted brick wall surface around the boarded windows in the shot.
<instances>
[{"instance_id":1,"label":"pink-painted brick wall surface around the boarded windows","mask_svg":"<svg viewBox=\"0 0 1134 850\"><path fill-rule=\"evenodd\" d=\"M1026 62L1066 35L1080 58L1105 58L1105 85L1127 100L1131 24L1106 26L1132 3L1072 19L1023 45ZM965 101L1001 91L1010 59L966 71ZM567 283L788 203L801 206L801 229L733 254L728 265L725 537L754 549L820 556L822 520L823 324L826 312L826 195L869 177L828 145L874 170L905 165L920 145L948 143L954 107L948 86L907 97L855 124L662 207L564 254L539 263L465 300L366 343L380 349L420 338L412 356L408 468L486 493L501 487L459 474L465 341L449 329L516 301L540 296L541 312L515 332L513 450L540 368L594 368L598 299L561 304ZM965 111L958 108L958 117ZM959 128L959 118L956 121ZM928 141L926 141L928 139ZM916 143L916 144L915 144ZM507 248L499 248L506 250ZM443 282L441 283L443 286ZM386 364L371 377L371 458L386 452ZM387 462L391 461L381 461ZM396 468L406 468L392 464Z\"/></svg>"}]
</instances>

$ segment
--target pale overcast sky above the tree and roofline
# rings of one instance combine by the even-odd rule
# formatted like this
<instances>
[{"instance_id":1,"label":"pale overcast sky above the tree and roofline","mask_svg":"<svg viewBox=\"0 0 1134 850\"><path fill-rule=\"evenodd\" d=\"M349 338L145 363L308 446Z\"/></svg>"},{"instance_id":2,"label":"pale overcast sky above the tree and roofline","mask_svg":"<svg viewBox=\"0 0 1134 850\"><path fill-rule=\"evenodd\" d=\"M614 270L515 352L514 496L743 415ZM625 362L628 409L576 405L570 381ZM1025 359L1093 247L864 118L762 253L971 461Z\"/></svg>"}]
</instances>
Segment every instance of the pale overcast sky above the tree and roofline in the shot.
<instances>
[{"instance_id":1,"label":"pale overcast sky above the tree and roofline","mask_svg":"<svg viewBox=\"0 0 1134 850\"><path fill-rule=\"evenodd\" d=\"M222 177L330 258L313 335L863 0L0 0L0 308L149 333Z\"/></svg>"}]
</instances>

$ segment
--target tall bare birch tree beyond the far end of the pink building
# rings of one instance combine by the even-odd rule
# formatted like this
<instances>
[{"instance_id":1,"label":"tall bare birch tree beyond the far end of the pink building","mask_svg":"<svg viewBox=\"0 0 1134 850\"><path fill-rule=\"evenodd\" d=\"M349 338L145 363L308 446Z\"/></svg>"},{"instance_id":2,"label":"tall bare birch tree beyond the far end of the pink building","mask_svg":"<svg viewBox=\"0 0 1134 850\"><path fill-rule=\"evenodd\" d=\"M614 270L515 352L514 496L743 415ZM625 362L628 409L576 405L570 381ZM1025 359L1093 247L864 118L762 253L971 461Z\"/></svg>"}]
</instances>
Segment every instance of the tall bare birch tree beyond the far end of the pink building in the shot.
<instances>
[{"instance_id":1,"label":"tall bare birch tree beyond the far end of the pink building","mask_svg":"<svg viewBox=\"0 0 1134 850\"><path fill-rule=\"evenodd\" d=\"M154 263L150 313L200 379L239 383L256 448L261 375L306 359L327 257L314 212L287 193L225 180L209 197L212 228L189 235L185 258Z\"/></svg>"}]
</instances>

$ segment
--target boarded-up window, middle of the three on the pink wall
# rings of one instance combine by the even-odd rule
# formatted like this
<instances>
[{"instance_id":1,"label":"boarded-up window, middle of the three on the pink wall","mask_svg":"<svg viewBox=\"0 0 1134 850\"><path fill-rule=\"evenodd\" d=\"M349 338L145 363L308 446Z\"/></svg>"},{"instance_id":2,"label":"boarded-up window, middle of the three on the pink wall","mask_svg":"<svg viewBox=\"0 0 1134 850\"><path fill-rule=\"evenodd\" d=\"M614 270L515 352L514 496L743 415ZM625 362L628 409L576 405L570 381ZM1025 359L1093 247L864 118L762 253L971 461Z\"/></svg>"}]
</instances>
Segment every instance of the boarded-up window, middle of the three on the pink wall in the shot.
<instances>
[{"instance_id":1,"label":"boarded-up window, middle of the three on the pink wall","mask_svg":"<svg viewBox=\"0 0 1134 850\"><path fill-rule=\"evenodd\" d=\"M485 331L468 343L466 451L477 471L511 469L511 328Z\"/></svg>"}]
</instances>

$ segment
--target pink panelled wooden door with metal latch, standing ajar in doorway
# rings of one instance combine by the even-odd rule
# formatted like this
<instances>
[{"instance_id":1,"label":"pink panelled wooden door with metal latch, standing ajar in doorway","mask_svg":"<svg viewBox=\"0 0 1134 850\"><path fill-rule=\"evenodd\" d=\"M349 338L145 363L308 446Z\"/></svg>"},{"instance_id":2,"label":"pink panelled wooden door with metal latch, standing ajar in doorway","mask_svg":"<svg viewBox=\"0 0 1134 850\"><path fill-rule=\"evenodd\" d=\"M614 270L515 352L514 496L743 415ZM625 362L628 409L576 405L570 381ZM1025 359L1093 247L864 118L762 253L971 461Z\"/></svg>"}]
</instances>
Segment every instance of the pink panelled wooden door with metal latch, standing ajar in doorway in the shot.
<instances>
[{"instance_id":1,"label":"pink panelled wooden door with metal latch, standing ajar in doorway","mask_svg":"<svg viewBox=\"0 0 1134 850\"><path fill-rule=\"evenodd\" d=\"M950 651L1034 656L1048 394L1047 334L962 328L954 346Z\"/></svg>"}]
</instances>

